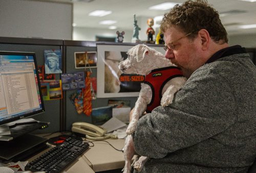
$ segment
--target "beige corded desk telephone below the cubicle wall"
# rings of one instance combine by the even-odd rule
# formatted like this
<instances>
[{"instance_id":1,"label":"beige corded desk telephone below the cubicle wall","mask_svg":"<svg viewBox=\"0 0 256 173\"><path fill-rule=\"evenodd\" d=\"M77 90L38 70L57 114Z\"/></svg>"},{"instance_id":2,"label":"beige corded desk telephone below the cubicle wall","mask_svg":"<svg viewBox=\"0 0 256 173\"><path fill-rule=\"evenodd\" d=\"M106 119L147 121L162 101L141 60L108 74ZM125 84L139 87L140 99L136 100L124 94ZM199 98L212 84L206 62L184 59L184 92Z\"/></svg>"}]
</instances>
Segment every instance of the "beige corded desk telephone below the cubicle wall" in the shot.
<instances>
[{"instance_id":1,"label":"beige corded desk telephone below the cubicle wall","mask_svg":"<svg viewBox=\"0 0 256 173\"><path fill-rule=\"evenodd\" d=\"M86 138L91 140L117 139L116 135L105 135L106 129L87 122L74 122L72 132L86 135Z\"/></svg>"}]
</instances>

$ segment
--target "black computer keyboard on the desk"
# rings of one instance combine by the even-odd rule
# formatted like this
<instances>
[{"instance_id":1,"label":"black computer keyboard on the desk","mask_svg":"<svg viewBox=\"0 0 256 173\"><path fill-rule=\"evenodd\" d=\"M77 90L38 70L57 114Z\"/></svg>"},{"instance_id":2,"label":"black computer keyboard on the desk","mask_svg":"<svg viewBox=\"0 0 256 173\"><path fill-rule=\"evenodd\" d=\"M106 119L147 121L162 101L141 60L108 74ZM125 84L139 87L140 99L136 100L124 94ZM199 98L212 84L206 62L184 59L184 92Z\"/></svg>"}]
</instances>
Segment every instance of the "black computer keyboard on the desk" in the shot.
<instances>
[{"instance_id":1,"label":"black computer keyboard on the desk","mask_svg":"<svg viewBox=\"0 0 256 173\"><path fill-rule=\"evenodd\" d=\"M88 143L68 137L65 141L54 146L48 152L42 154L32 162L28 163L25 170L60 172L78 158L89 147Z\"/></svg>"}]
</instances>

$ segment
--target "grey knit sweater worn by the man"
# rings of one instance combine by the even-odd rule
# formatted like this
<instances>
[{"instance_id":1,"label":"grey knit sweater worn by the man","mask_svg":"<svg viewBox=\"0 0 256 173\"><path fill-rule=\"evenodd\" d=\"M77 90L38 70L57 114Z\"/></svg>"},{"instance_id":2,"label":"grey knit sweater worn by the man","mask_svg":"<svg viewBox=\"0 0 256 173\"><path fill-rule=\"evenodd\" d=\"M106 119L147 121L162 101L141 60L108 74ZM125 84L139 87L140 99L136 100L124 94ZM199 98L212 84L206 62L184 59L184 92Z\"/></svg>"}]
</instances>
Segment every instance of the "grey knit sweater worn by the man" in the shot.
<instances>
[{"instance_id":1,"label":"grey knit sweater worn by the man","mask_svg":"<svg viewBox=\"0 0 256 173\"><path fill-rule=\"evenodd\" d=\"M142 172L246 172L256 158L256 67L236 54L197 69L174 103L139 119Z\"/></svg>"}]
</instances>

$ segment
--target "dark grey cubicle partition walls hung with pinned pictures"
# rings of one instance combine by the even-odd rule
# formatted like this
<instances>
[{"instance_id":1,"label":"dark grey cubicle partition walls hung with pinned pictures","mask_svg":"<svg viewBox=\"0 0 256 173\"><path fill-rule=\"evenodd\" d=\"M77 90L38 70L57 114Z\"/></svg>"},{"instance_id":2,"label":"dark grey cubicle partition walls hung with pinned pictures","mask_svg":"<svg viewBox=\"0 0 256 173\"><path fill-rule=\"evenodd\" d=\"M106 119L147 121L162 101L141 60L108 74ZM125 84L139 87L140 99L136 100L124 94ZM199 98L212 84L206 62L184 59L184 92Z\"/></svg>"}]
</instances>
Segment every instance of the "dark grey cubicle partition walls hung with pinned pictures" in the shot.
<instances>
[{"instance_id":1,"label":"dark grey cubicle partition walls hung with pinned pictures","mask_svg":"<svg viewBox=\"0 0 256 173\"><path fill-rule=\"evenodd\" d=\"M30 38L8 38L0 37L0 51L16 51L16 52L35 52L38 65L44 65L44 50L61 49L62 51L62 72L71 73L84 71L83 68L75 68L74 53L75 52L96 52L97 44L116 44L116 45L135 45L134 43L110 43L110 42L94 42L94 41L72 41L72 40L51 40L51 39L30 39ZM155 46L155 45L150 45ZM252 61L256 63L256 49L248 48ZM91 77L97 78L97 67L91 68ZM87 69L89 70L89 69ZM56 79L60 79L60 75L56 74ZM103 85L97 84L97 85ZM33 118L40 121L50 122L49 128L37 130L35 133L52 133L57 131L71 130L73 122L86 121L92 122L91 116L78 114L74 105L70 101L69 96L75 90L63 91L61 100L44 101L45 113L35 115ZM130 100L131 107L134 107L137 100L136 97L112 97L113 100ZM92 101L92 107L108 106L109 98L97 98Z\"/></svg>"}]
</instances>

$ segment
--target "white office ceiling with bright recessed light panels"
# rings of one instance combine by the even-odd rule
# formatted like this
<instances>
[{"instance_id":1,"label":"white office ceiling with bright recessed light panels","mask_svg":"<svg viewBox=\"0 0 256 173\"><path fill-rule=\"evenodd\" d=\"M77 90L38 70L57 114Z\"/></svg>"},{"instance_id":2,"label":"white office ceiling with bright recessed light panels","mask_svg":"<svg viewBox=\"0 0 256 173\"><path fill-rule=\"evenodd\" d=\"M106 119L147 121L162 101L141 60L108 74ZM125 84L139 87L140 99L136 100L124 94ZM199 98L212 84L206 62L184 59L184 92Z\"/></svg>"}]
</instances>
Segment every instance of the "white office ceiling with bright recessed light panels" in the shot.
<instances>
[{"instance_id":1,"label":"white office ceiling with bright recessed light panels","mask_svg":"<svg viewBox=\"0 0 256 173\"><path fill-rule=\"evenodd\" d=\"M44 1L44 0L38 0ZM136 17L155 17L163 15L169 10L157 11L148 10L148 7L167 0L45 0L54 2L73 3L73 21L76 27L100 28L108 30L109 26L99 24L102 20L117 20L113 24L120 30L133 30L133 15ZM172 2L182 3L183 0L173 0ZM254 29L239 29L240 25L256 24L256 2L250 3L239 0L208 0L219 13L232 11L231 15L221 16L229 35L256 33ZM94 10L110 10L112 14L95 17L88 14Z\"/></svg>"}]
</instances>

